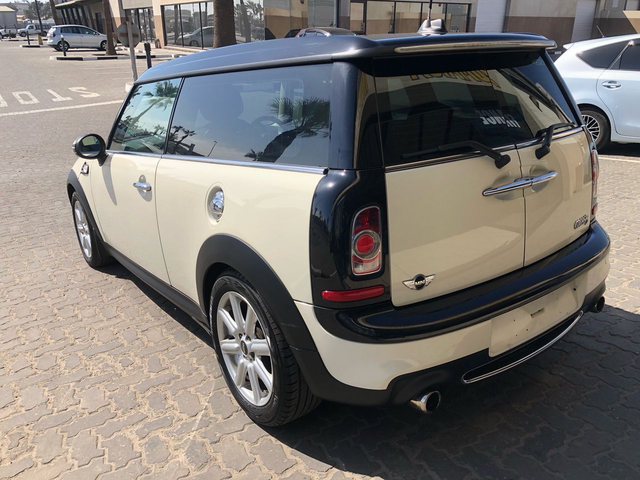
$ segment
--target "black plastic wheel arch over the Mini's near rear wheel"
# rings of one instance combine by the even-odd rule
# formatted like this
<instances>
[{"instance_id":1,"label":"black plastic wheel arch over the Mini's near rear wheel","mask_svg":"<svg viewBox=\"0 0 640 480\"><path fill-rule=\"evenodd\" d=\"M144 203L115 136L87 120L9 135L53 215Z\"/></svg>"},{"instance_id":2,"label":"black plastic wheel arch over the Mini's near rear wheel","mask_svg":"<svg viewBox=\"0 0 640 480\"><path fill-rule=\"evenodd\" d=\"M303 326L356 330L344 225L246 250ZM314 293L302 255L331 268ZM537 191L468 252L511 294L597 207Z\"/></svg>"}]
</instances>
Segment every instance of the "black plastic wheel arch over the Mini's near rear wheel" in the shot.
<instances>
[{"instance_id":1,"label":"black plastic wheel arch over the Mini's near rear wheel","mask_svg":"<svg viewBox=\"0 0 640 480\"><path fill-rule=\"evenodd\" d=\"M204 241L198 252L196 260L198 303L207 316L213 284L228 268L241 273L260 293L289 345L296 349L316 350L316 344L307 325L282 280L259 253L234 236L227 234L211 236Z\"/></svg>"}]
</instances>

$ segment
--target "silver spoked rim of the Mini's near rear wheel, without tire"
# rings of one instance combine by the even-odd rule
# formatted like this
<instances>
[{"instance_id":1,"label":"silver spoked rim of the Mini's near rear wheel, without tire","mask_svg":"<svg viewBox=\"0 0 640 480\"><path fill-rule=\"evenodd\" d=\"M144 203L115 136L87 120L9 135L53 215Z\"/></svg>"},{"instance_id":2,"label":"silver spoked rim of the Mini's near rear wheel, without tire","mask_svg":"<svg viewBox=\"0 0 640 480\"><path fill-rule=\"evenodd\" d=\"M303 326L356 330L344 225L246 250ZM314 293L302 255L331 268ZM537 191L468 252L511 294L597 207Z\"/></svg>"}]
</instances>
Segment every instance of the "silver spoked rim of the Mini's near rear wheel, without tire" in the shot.
<instances>
[{"instance_id":1,"label":"silver spoked rim of the Mini's near rear wheel, without tire","mask_svg":"<svg viewBox=\"0 0 640 480\"><path fill-rule=\"evenodd\" d=\"M271 344L251 304L237 292L218 303L218 341L236 390L255 406L265 405L273 392Z\"/></svg>"}]
</instances>

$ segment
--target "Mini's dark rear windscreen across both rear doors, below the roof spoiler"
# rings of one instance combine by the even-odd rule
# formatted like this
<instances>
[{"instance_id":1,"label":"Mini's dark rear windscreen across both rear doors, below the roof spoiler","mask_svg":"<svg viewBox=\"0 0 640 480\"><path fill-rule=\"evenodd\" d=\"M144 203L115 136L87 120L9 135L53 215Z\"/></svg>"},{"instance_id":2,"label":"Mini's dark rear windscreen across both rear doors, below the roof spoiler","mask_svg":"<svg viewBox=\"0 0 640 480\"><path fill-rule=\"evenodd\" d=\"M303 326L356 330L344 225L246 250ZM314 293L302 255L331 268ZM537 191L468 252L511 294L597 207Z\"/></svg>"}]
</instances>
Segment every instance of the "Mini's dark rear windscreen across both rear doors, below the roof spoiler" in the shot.
<instances>
[{"instance_id":1,"label":"Mini's dark rear windscreen across both rear doors, below the roof spoiler","mask_svg":"<svg viewBox=\"0 0 640 480\"><path fill-rule=\"evenodd\" d=\"M451 143L513 147L550 125L579 125L540 52L381 60L374 75L387 165L442 157L438 147Z\"/></svg>"}]
</instances>

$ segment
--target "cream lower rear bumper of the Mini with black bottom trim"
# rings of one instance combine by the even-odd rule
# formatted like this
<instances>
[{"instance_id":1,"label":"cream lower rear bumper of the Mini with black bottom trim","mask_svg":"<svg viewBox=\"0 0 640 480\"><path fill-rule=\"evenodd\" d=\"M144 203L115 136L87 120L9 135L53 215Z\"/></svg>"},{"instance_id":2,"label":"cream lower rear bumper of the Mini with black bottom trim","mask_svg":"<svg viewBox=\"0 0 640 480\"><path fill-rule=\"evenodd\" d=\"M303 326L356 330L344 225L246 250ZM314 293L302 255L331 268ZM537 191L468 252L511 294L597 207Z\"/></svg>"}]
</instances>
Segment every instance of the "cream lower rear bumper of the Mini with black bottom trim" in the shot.
<instances>
[{"instance_id":1,"label":"cream lower rear bumper of the Mini with black bottom trim","mask_svg":"<svg viewBox=\"0 0 640 480\"><path fill-rule=\"evenodd\" d=\"M550 275L545 282L537 282L538 289L529 285L529 295L515 295L517 301L513 301L513 294L495 299L493 314L487 313L489 305L483 304L476 309L479 320L468 319L466 314L470 312L465 312L465 321L456 327L445 324L440 332L430 329L416 339L344 339L324 328L316 316L317 308L296 302L317 348L294 348L307 383L314 394L330 401L404 403L428 388L444 390L452 383L481 380L537 355L566 334L604 294L609 239L597 224L584 237L577 247L573 246L575 250L552 255L556 261L545 259L545 268L537 270L555 272L557 262L571 255L576 259L575 253L584 253L587 246L593 256L580 255L582 263L563 275ZM600 248L594 252L591 249L596 243ZM558 277L563 280L552 282ZM542 288L550 284L554 287ZM510 307L505 306L508 300ZM415 308L412 315L417 315ZM429 319L433 312L423 315ZM343 316L341 320L347 319ZM517 326L515 330L513 325Z\"/></svg>"}]
</instances>

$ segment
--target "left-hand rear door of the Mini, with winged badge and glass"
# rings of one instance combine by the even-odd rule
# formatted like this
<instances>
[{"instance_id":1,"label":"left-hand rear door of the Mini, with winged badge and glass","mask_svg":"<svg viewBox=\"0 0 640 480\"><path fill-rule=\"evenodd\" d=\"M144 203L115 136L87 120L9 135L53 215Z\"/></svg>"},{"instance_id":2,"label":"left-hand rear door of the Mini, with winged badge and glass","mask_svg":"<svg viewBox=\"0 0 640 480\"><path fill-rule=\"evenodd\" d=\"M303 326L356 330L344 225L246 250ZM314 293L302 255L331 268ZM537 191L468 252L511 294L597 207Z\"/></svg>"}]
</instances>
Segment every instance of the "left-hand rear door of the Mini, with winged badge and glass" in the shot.
<instances>
[{"instance_id":1,"label":"left-hand rear door of the Mini, with winged badge and glass","mask_svg":"<svg viewBox=\"0 0 640 480\"><path fill-rule=\"evenodd\" d=\"M407 305L522 268L522 189L483 195L522 177L490 70L477 54L374 65L387 182L391 294ZM461 68L462 67L462 68ZM494 159L474 140L507 154ZM433 280L414 289L417 275ZM406 284L407 282L408 284Z\"/></svg>"}]
</instances>

